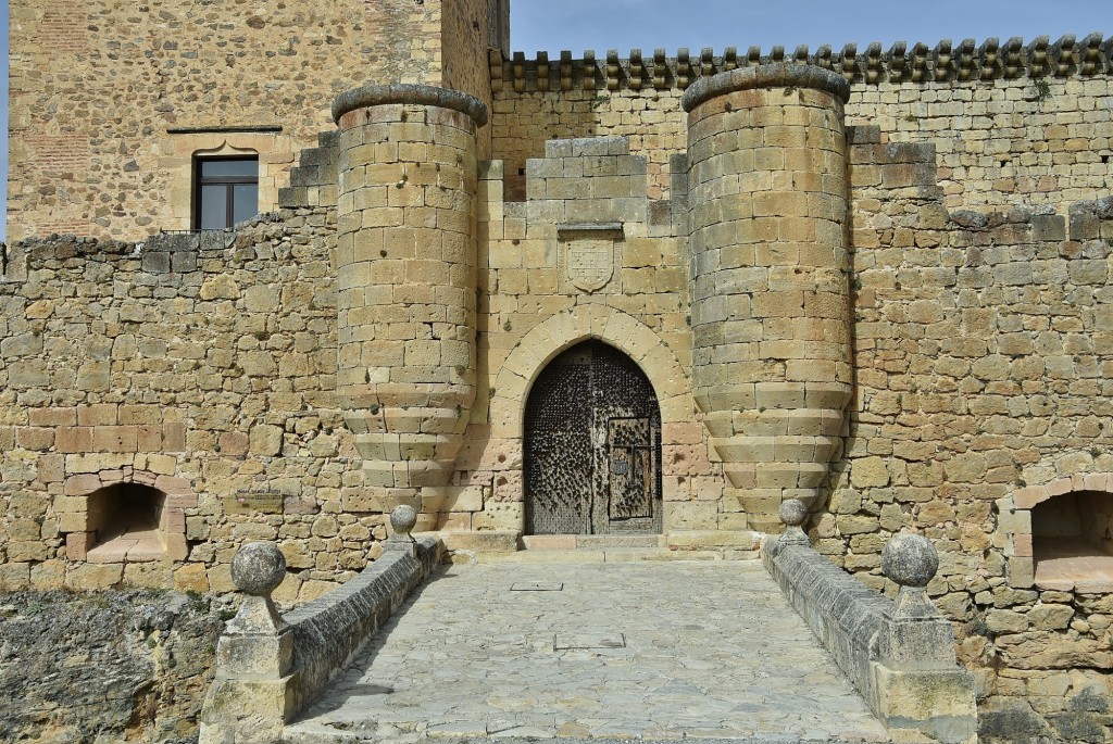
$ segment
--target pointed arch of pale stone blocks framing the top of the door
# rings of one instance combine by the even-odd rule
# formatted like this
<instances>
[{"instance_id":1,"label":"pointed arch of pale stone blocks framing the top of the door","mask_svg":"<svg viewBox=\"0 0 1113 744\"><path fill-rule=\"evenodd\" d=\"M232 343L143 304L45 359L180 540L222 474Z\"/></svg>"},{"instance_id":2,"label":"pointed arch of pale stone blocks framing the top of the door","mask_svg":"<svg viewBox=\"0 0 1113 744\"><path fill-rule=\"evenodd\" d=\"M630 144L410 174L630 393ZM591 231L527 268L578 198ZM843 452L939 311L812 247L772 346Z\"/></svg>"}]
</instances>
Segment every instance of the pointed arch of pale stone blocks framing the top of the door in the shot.
<instances>
[{"instance_id":1,"label":"pointed arch of pale stone blocks framing the top of the door","mask_svg":"<svg viewBox=\"0 0 1113 744\"><path fill-rule=\"evenodd\" d=\"M538 375L558 354L597 338L613 346L646 373L661 406L661 423L691 420L691 384L672 350L649 326L622 310L578 305L534 326L511 351L495 378L490 420L494 437L520 439L525 400Z\"/></svg>"}]
</instances>

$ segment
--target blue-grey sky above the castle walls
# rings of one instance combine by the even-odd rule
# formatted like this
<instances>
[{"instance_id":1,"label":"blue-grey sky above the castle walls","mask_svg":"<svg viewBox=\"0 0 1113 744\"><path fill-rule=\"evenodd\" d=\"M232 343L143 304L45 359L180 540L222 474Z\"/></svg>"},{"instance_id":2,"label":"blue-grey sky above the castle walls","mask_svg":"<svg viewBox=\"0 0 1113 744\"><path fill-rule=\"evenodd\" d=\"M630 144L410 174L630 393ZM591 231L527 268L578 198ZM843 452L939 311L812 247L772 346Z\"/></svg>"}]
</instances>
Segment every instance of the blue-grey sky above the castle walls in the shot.
<instances>
[{"instance_id":1,"label":"blue-grey sky above the castle walls","mask_svg":"<svg viewBox=\"0 0 1113 744\"><path fill-rule=\"evenodd\" d=\"M8 28L8 3L0 10L0 23ZM845 0L512 0L511 47L533 54L539 50L556 54L563 49L574 56L593 49L602 56L618 49L627 56L632 48L652 53L664 47L670 56L679 47L698 52L725 47L741 52L751 44L768 51L774 44L795 49L806 43L812 49L824 43L840 48L855 41L864 49L870 41L886 48L894 41L923 41L935 46L940 39L955 42L965 38L1021 36L1031 39L1064 33L1078 38L1092 31L1113 33L1111 0L934 0L933 2L888 2ZM8 34L0 40L3 52L3 105L0 123L8 130ZM0 172L7 177L8 148L0 148ZM7 208L7 190L0 189L0 209ZM0 239L7 227L0 224Z\"/></svg>"}]
</instances>

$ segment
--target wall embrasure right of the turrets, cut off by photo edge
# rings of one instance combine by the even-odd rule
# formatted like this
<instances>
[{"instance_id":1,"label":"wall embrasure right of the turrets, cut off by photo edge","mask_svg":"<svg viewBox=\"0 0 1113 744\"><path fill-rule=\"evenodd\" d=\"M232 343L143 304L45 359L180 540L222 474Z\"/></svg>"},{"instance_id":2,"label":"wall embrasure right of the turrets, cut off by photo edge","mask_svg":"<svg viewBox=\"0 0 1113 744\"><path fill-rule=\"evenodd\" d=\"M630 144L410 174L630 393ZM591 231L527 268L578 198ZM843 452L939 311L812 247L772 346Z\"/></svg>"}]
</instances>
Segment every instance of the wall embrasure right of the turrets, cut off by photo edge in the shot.
<instances>
[{"instance_id":1,"label":"wall embrasure right of the turrets, cut off by photo edge","mask_svg":"<svg viewBox=\"0 0 1113 744\"><path fill-rule=\"evenodd\" d=\"M1076 490L1032 509L1036 585L1113 581L1113 494Z\"/></svg>"}]
</instances>

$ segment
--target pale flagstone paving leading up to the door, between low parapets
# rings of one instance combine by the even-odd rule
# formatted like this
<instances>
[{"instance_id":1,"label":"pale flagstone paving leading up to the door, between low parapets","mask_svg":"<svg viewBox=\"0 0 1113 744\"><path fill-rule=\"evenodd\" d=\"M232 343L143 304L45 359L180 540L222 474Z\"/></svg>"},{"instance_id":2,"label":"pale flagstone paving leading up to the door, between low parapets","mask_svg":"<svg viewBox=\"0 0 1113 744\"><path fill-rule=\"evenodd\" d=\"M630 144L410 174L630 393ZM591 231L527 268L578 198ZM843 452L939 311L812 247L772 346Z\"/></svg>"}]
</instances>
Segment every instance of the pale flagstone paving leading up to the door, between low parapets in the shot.
<instances>
[{"instance_id":1,"label":"pale flagstone paving leading up to the door, between low parapets","mask_svg":"<svg viewBox=\"0 0 1113 744\"><path fill-rule=\"evenodd\" d=\"M888 741L757 562L447 568L287 741L328 733Z\"/></svg>"}]
</instances>

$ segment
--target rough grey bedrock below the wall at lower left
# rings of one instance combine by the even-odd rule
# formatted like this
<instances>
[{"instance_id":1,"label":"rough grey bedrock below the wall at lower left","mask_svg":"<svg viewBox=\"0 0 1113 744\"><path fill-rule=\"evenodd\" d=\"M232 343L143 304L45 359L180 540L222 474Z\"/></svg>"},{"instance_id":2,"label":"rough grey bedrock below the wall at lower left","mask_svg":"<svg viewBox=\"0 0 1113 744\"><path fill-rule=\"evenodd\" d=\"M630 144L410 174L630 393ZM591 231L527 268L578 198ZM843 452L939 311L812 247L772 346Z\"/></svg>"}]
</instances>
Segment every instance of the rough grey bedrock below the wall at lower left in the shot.
<instances>
[{"instance_id":1,"label":"rough grey bedrock below the wall at lower left","mask_svg":"<svg viewBox=\"0 0 1113 744\"><path fill-rule=\"evenodd\" d=\"M197 741L220 611L178 593L0 597L0 738Z\"/></svg>"}]
</instances>

